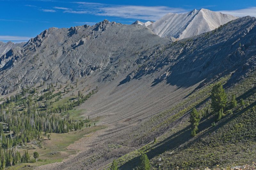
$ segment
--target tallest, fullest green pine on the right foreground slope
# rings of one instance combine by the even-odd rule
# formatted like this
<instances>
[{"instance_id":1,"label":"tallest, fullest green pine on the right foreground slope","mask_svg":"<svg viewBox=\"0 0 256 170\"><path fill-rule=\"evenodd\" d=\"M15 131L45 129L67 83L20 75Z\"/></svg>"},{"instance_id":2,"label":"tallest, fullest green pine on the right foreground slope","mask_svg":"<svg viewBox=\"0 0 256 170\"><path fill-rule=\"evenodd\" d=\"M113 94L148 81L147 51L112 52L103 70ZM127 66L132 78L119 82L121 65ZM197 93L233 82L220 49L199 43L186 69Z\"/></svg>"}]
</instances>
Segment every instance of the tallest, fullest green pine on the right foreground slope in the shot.
<instances>
[{"instance_id":1,"label":"tallest, fullest green pine on the right foreground slope","mask_svg":"<svg viewBox=\"0 0 256 170\"><path fill-rule=\"evenodd\" d=\"M218 113L218 111L221 108L226 107L227 94L225 93L225 90L223 89L223 86L220 83L213 86L211 99L212 99L211 106L215 113Z\"/></svg>"}]
</instances>

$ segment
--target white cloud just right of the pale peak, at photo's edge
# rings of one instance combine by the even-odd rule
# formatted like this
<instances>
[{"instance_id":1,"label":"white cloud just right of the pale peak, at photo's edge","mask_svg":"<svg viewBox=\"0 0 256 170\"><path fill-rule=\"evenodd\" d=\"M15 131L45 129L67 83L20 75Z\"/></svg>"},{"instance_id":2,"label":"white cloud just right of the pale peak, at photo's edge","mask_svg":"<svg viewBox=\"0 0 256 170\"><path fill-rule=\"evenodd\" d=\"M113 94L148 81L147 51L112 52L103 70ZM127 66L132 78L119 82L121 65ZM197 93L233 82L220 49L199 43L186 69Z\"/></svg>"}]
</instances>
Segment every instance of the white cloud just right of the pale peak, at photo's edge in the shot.
<instances>
[{"instance_id":1,"label":"white cloud just right of the pale peak, at photo's edge","mask_svg":"<svg viewBox=\"0 0 256 170\"><path fill-rule=\"evenodd\" d=\"M230 10L230 11L218 11L225 14L230 14L236 17L252 16L256 17L256 7L250 7L240 10Z\"/></svg>"}]
</instances>

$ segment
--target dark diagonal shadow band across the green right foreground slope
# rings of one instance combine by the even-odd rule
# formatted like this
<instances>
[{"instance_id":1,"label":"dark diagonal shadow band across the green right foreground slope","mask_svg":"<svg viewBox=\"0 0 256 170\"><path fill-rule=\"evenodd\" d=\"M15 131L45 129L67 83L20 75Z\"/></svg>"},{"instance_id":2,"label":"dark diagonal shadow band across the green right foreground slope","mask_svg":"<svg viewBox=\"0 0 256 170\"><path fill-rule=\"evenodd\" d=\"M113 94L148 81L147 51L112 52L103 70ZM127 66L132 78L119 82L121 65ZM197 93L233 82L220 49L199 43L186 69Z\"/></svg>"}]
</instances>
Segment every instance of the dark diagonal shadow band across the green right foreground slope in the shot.
<instances>
[{"instance_id":1,"label":"dark diagonal shadow band across the green right foreground slope","mask_svg":"<svg viewBox=\"0 0 256 170\"><path fill-rule=\"evenodd\" d=\"M251 90L247 91L246 93L253 94L252 92L254 92L254 91L255 91L255 88L252 88ZM242 95L242 96L244 97L244 95ZM239 96L239 98L242 96ZM206 118L203 118L200 121L200 124L198 126L199 132L202 132L207 128L209 128L209 129L207 129L203 133L197 135L196 137L192 138L190 136L190 134L191 134L190 126L187 126L186 128L174 133L173 135L166 138L165 140L163 140L163 141L153 145L151 148L147 149L146 152L148 151L147 152L148 158L152 159L166 151L172 151L174 149L177 149L180 146L181 147L179 149L189 148L189 146L191 146L192 144L200 141L201 138L208 136L212 132L216 132L217 129L222 128L225 124L227 124L228 122L230 122L233 119L236 119L236 117L238 117L245 111L251 109L255 105L256 105L256 101L253 102L252 104L250 104L249 106L244 107L240 111L238 111L238 109L237 109L236 114L227 115L225 118L223 118L221 121L219 121L217 126L215 126L215 127L211 127L211 124L215 121L215 116L209 115ZM120 166L120 170L126 170L126 169L128 170L128 169L135 168L136 166L138 166L139 161L140 161L140 156L135 157L135 158L129 160L128 162L126 162L125 164L123 164L122 166Z\"/></svg>"}]
</instances>

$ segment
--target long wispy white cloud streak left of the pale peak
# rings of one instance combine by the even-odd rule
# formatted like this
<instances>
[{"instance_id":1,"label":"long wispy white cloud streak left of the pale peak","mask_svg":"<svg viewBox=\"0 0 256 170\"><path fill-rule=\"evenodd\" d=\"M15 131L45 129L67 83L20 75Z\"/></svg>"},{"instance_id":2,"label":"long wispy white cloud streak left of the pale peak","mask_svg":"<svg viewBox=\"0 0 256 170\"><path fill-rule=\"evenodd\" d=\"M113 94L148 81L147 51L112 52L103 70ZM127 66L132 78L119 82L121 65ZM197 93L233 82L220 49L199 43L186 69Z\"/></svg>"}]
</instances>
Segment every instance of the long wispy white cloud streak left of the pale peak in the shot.
<instances>
[{"instance_id":1,"label":"long wispy white cloud streak left of the pale peak","mask_svg":"<svg viewBox=\"0 0 256 170\"><path fill-rule=\"evenodd\" d=\"M153 21L163 17L169 12L188 12L188 10L183 8L171 8L167 6L111 5L89 2L74 2L73 4L76 4L77 6L72 9L67 7L53 7L53 9L63 10L62 12L64 13L92 14Z\"/></svg>"}]
</instances>

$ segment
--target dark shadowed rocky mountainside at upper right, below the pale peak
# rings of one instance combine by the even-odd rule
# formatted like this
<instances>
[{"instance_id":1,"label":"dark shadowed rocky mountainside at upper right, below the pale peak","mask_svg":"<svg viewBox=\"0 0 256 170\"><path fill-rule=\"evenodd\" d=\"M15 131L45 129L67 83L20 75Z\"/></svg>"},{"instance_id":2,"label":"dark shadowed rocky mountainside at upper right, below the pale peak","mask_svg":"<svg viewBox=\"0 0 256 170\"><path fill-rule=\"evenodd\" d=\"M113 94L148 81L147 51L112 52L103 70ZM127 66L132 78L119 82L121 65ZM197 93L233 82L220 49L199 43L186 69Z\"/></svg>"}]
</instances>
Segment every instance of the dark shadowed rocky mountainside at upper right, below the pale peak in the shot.
<instances>
[{"instance_id":1,"label":"dark shadowed rocky mountainside at upper right, below the pale peak","mask_svg":"<svg viewBox=\"0 0 256 170\"><path fill-rule=\"evenodd\" d=\"M255 69L255 25L253 17L239 18L212 32L168 44L125 80L161 71L154 83L165 79L172 85L190 86L225 71Z\"/></svg>"}]
</instances>

